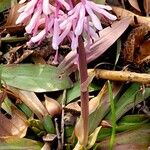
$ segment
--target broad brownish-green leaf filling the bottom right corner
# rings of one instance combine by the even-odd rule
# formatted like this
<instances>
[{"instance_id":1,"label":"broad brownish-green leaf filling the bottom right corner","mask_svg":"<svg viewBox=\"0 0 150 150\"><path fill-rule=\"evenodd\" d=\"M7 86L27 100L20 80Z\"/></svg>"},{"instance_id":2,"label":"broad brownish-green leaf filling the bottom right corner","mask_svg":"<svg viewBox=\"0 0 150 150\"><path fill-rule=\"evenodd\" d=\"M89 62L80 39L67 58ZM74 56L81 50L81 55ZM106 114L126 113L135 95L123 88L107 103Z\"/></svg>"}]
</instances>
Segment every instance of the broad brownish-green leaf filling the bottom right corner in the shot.
<instances>
[{"instance_id":1,"label":"broad brownish-green leaf filling the bottom right corner","mask_svg":"<svg viewBox=\"0 0 150 150\"><path fill-rule=\"evenodd\" d=\"M107 138L100 142L97 149L106 150L110 138ZM116 142L114 143L114 149L118 150L147 150L150 142L150 124L143 125L141 128L137 128L132 131L116 134Z\"/></svg>"}]
</instances>

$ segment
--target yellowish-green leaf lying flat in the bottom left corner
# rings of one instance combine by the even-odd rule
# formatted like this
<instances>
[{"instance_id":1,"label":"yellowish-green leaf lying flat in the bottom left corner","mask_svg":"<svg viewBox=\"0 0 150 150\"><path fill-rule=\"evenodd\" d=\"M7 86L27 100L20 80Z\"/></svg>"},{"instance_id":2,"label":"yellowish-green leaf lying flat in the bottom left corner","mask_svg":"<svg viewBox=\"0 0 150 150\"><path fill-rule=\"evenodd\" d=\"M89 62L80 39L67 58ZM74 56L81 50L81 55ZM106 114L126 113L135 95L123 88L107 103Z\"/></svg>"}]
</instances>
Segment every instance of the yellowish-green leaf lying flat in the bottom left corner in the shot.
<instances>
[{"instance_id":1,"label":"yellowish-green leaf lying flat in the bottom left corner","mask_svg":"<svg viewBox=\"0 0 150 150\"><path fill-rule=\"evenodd\" d=\"M0 142L1 150L41 150L42 143L26 138L8 137Z\"/></svg>"}]
</instances>

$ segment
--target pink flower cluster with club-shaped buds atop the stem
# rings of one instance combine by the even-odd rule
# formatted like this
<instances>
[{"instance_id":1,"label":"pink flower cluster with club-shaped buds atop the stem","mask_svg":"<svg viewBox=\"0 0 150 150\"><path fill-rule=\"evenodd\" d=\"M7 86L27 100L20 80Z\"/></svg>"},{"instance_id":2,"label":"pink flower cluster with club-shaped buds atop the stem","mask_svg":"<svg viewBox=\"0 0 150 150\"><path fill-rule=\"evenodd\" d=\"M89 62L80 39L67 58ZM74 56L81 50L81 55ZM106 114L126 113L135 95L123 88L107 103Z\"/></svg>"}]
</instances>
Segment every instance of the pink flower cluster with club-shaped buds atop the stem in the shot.
<instances>
[{"instance_id":1,"label":"pink flower cluster with club-shaped buds atop the stem","mask_svg":"<svg viewBox=\"0 0 150 150\"><path fill-rule=\"evenodd\" d=\"M116 16L107 12L110 6L81 0L21 0L25 3L19 9L16 24L28 22L26 32L32 35L28 42L40 43L44 38L52 38L52 47L58 50L65 38L71 41L73 50L78 47L78 37L85 33L91 42L98 38L97 30L102 30L101 17L116 20ZM41 29L40 27L43 26Z\"/></svg>"}]
</instances>

